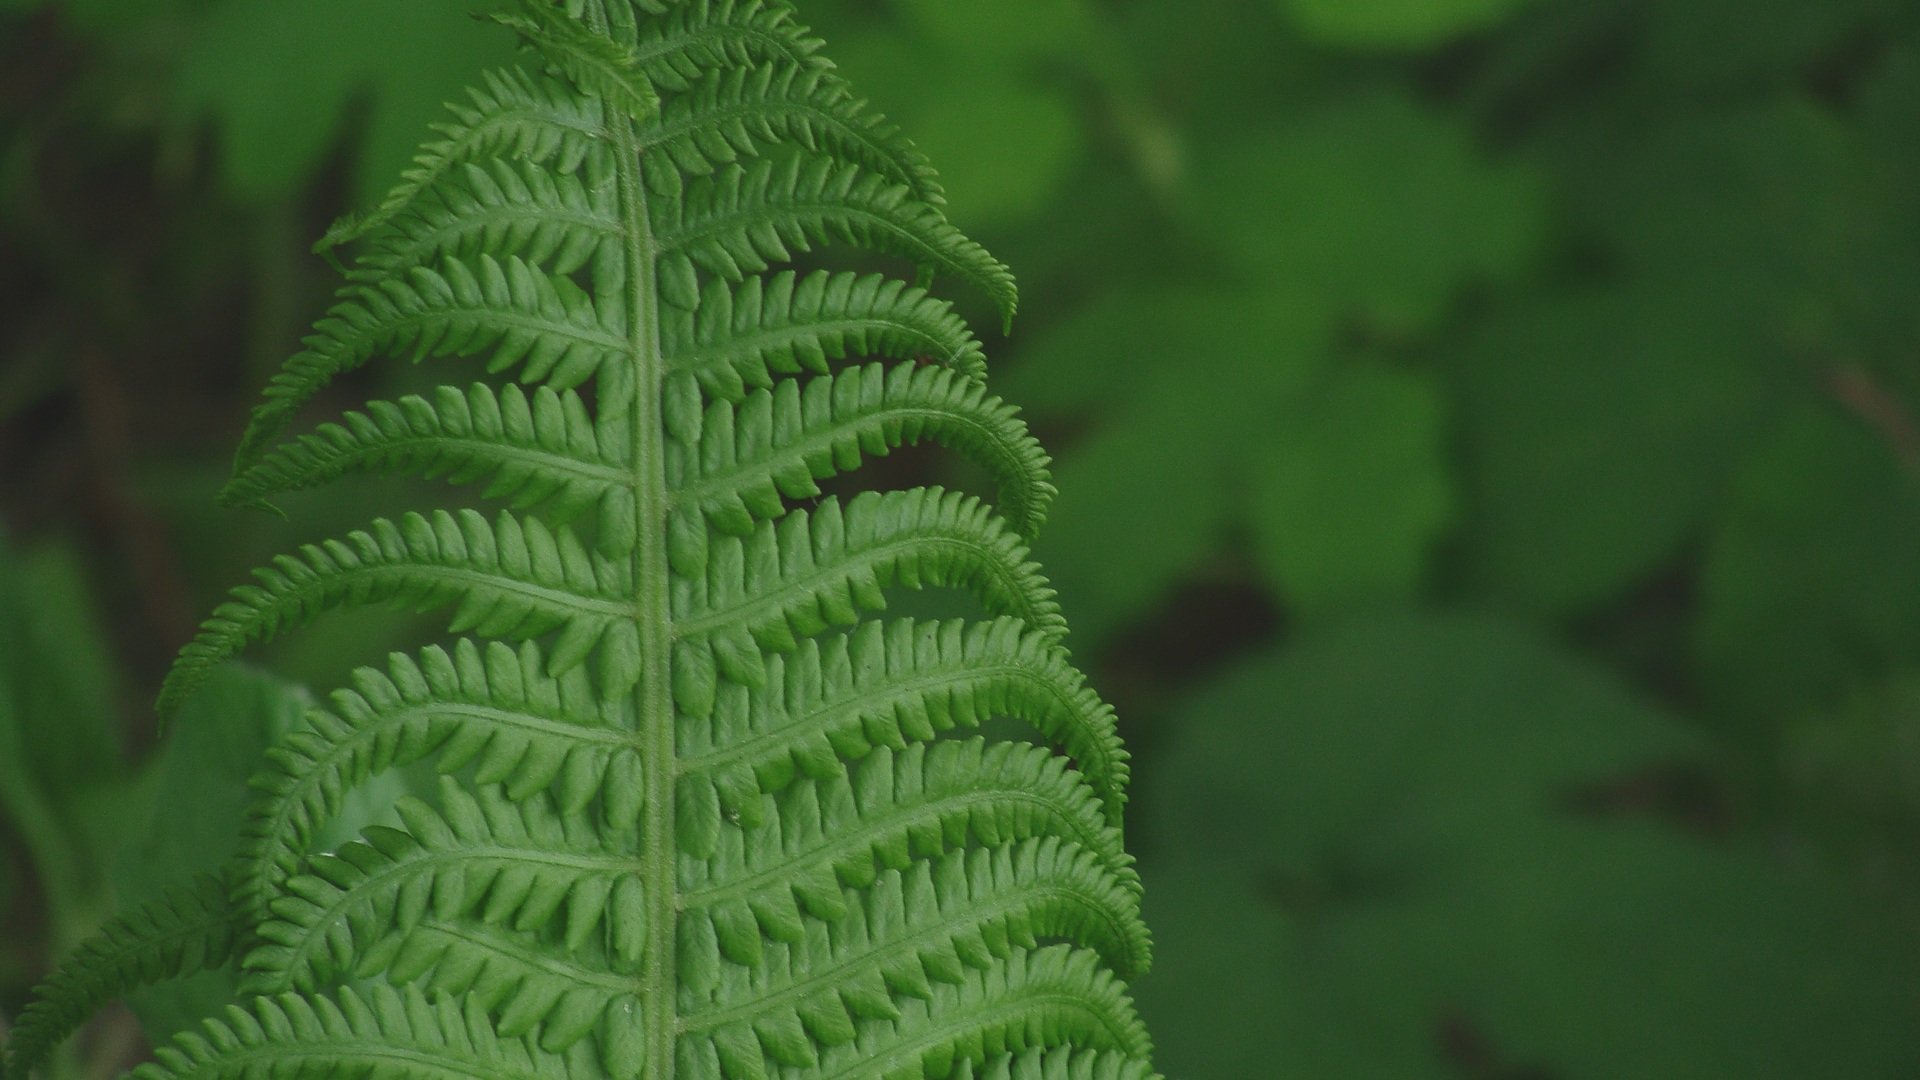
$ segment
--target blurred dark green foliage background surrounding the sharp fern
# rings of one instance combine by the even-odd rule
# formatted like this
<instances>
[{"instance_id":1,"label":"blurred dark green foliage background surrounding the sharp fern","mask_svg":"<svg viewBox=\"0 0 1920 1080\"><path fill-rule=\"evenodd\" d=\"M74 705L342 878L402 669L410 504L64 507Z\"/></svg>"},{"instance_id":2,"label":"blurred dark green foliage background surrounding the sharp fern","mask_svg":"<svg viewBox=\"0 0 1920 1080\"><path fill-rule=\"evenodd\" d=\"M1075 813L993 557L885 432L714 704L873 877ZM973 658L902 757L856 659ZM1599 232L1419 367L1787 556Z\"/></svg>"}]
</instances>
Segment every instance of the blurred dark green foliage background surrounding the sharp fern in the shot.
<instances>
[{"instance_id":1,"label":"blurred dark green foliage background surrounding the sharp fern","mask_svg":"<svg viewBox=\"0 0 1920 1080\"><path fill-rule=\"evenodd\" d=\"M311 238L511 58L467 8L0 0L0 1017L230 844L288 721L157 749L194 621L449 498L211 502ZM1169 1078L1920 1076L1920 6L803 17L1021 279ZM371 626L257 659L324 690Z\"/></svg>"}]
</instances>

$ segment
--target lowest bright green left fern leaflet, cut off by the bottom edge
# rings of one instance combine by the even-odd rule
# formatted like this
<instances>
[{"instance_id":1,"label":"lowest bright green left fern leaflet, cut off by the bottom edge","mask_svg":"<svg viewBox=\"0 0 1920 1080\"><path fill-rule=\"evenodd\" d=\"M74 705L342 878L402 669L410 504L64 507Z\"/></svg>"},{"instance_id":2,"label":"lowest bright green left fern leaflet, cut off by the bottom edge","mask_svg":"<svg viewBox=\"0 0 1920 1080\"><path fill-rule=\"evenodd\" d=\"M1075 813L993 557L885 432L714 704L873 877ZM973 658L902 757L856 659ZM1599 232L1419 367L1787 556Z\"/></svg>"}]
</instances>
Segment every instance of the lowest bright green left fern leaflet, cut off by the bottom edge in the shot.
<instances>
[{"instance_id":1,"label":"lowest bright green left fern leaflet, cut off by the bottom edge","mask_svg":"<svg viewBox=\"0 0 1920 1080\"><path fill-rule=\"evenodd\" d=\"M501 1038L474 1003L428 1001L374 984L367 992L282 994L228 1007L204 1032L180 1034L159 1047L156 1061L131 1080L588 1080L595 1074L586 1053L563 1057L534 1040Z\"/></svg>"}]
</instances>

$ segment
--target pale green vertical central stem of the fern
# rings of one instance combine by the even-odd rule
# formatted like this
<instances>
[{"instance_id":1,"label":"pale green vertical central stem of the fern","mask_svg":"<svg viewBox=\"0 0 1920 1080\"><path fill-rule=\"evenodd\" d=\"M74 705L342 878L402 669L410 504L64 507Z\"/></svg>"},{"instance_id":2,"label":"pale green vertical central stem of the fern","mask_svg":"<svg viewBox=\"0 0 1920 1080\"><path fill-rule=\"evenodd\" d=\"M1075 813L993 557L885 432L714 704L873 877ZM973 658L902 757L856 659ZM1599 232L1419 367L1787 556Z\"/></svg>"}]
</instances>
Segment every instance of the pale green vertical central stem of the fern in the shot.
<instances>
[{"instance_id":1,"label":"pale green vertical central stem of the fern","mask_svg":"<svg viewBox=\"0 0 1920 1080\"><path fill-rule=\"evenodd\" d=\"M599 12L593 12L597 17ZM599 19L595 19L599 21ZM595 29L605 29L601 23ZM660 356L655 242L647 192L639 175L639 138L634 119L609 110L614 133L614 169L620 215L626 223L626 315L632 363L603 384L601 407L632 409L636 619L639 623L641 676L634 688L639 730L643 809L639 826L641 884L647 896L647 945L641 961L641 1038L645 1080L674 1074L676 924L680 915L674 842L674 698L670 659L674 646L666 565L666 450L662 392L666 363ZM620 380L630 380L620 386Z\"/></svg>"}]
</instances>

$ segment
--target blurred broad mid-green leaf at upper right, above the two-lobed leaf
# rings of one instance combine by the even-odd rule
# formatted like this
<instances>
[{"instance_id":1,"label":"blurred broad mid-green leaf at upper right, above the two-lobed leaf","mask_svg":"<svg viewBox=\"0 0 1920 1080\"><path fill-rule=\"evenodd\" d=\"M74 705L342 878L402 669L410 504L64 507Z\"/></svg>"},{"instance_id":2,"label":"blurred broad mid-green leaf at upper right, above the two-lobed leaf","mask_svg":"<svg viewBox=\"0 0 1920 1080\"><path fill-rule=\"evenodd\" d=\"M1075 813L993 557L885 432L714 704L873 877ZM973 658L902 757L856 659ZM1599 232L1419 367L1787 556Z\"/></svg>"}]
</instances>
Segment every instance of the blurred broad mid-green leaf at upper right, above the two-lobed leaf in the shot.
<instances>
[{"instance_id":1,"label":"blurred broad mid-green leaf at upper right, above the two-lobed leaf","mask_svg":"<svg viewBox=\"0 0 1920 1080\"><path fill-rule=\"evenodd\" d=\"M1523 271L1536 177L1400 94L1342 98L1196 154L1194 227L1260 281L1390 334L1430 327L1469 284Z\"/></svg>"}]
</instances>

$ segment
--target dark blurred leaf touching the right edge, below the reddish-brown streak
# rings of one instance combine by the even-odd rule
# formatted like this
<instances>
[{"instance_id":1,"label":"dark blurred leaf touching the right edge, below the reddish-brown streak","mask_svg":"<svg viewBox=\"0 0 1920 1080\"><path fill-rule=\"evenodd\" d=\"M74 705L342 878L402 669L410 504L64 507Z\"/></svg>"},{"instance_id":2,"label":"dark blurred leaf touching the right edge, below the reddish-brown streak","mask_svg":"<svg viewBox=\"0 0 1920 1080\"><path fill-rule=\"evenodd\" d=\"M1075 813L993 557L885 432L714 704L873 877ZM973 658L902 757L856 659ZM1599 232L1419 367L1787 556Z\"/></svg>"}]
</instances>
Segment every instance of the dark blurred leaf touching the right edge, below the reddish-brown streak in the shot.
<instances>
[{"instance_id":1,"label":"dark blurred leaf touching the right edge, below the reddish-brown streak","mask_svg":"<svg viewBox=\"0 0 1920 1080\"><path fill-rule=\"evenodd\" d=\"M1701 578L1699 661L1745 723L1920 661L1920 488L1882 432L1793 409L1741 471Z\"/></svg>"}]
</instances>

